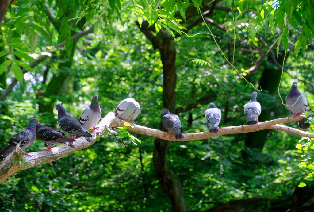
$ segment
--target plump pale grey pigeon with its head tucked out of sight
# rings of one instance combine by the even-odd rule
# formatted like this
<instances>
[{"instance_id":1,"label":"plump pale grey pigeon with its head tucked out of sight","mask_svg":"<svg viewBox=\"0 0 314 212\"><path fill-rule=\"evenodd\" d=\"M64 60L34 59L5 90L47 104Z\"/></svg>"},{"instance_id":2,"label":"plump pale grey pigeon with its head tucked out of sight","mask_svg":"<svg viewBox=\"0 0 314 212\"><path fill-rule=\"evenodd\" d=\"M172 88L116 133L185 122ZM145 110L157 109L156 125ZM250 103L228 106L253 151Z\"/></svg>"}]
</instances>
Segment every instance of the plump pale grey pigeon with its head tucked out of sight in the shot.
<instances>
[{"instance_id":1,"label":"plump pale grey pigeon with its head tucked out of sight","mask_svg":"<svg viewBox=\"0 0 314 212\"><path fill-rule=\"evenodd\" d=\"M132 98L127 98L120 102L115 110L115 116L125 122L131 122L141 113L138 102Z\"/></svg>"}]
</instances>

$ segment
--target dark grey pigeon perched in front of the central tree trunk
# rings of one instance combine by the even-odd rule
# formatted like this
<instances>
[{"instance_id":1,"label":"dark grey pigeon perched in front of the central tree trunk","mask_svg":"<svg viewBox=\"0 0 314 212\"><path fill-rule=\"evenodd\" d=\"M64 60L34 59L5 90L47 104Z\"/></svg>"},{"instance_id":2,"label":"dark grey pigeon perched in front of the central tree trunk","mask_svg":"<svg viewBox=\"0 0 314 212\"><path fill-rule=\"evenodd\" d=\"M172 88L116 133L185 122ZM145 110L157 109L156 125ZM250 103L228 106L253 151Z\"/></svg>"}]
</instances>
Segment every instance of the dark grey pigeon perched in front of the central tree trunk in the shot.
<instances>
[{"instance_id":1,"label":"dark grey pigeon perched in front of the central tree trunk","mask_svg":"<svg viewBox=\"0 0 314 212\"><path fill-rule=\"evenodd\" d=\"M167 109L162 109L160 114L161 113L164 114L162 124L169 130L167 133L175 134L176 139L184 139L179 117L175 114L171 114Z\"/></svg>"}]
</instances>

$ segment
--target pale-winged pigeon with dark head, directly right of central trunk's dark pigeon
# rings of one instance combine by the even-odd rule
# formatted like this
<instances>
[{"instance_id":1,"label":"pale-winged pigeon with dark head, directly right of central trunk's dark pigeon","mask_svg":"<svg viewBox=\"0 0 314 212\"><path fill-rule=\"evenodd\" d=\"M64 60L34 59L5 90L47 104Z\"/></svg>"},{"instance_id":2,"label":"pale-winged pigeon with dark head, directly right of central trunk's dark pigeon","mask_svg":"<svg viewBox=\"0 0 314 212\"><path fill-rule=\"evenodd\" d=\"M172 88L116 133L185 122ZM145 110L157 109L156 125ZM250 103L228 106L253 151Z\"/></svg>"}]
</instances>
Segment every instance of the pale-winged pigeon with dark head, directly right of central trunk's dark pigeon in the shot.
<instances>
[{"instance_id":1,"label":"pale-winged pigeon with dark head, directly right of central trunk's dark pigeon","mask_svg":"<svg viewBox=\"0 0 314 212\"><path fill-rule=\"evenodd\" d=\"M205 111L206 122L208 123L210 133L218 133L218 125L221 120L221 110L214 103L209 104L209 109Z\"/></svg>"}]
</instances>

